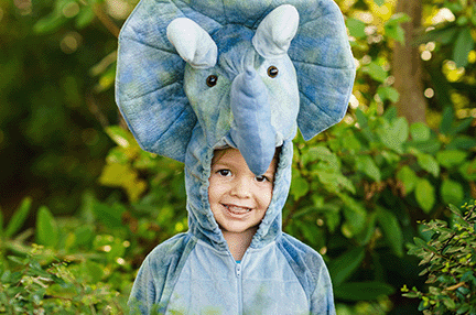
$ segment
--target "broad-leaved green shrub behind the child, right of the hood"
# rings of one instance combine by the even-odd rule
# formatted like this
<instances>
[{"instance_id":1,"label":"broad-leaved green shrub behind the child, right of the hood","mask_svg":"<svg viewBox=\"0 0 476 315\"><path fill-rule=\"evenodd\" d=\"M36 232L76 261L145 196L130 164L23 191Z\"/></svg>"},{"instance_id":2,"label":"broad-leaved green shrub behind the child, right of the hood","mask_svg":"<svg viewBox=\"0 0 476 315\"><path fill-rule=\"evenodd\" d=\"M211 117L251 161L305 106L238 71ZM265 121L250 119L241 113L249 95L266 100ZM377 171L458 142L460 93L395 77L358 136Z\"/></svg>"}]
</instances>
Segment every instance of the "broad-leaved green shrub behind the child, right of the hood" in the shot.
<instances>
[{"instance_id":1,"label":"broad-leaved green shrub behind the child, right of the hood","mask_svg":"<svg viewBox=\"0 0 476 315\"><path fill-rule=\"evenodd\" d=\"M459 137L409 126L390 109L357 110L355 122L298 139L284 229L326 253L337 300L391 295L398 282L382 261L408 259L404 242L416 235L409 222L470 198L462 165L474 163L476 145L462 148Z\"/></svg>"}]
</instances>

